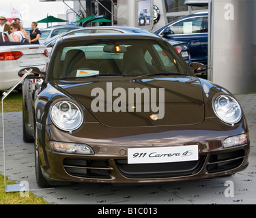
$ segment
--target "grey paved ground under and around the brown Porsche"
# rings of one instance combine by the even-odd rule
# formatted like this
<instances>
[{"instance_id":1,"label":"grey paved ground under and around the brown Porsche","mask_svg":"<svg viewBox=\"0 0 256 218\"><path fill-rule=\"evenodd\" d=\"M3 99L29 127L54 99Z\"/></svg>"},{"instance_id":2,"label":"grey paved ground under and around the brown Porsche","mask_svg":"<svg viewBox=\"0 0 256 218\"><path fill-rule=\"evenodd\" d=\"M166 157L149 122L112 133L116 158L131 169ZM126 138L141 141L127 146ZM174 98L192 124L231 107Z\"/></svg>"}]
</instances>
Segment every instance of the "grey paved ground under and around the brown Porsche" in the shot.
<instances>
[{"instance_id":1,"label":"grey paved ground under and around the brown Porsche","mask_svg":"<svg viewBox=\"0 0 256 218\"><path fill-rule=\"evenodd\" d=\"M17 183L28 181L29 189L35 195L54 204L256 204L256 94L237 95L237 98L248 121L251 153L248 168L233 176L158 185L117 187L108 184L76 184L40 189L35 183L33 143L22 140L21 112L4 114L6 174ZM2 151L1 129L1 174ZM229 191L232 187L233 197Z\"/></svg>"}]
</instances>

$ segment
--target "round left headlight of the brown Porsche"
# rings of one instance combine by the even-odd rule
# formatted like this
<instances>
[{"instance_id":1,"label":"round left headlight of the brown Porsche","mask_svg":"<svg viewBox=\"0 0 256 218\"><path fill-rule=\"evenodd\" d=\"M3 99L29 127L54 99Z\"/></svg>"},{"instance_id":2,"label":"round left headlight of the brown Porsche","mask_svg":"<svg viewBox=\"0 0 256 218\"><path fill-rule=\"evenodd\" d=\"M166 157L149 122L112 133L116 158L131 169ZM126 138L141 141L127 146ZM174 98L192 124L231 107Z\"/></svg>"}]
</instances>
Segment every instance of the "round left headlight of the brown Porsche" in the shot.
<instances>
[{"instance_id":1,"label":"round left headlight of the brown Porsche","mask_svg":"<svg viewBox=\"0 0 256 218\"><path fill-rule=\"evenodd\" d=\"M53 104L50 117L53 123L64 131L74 131L83 123L83 113L70 101L59 101Z\"/></svg>"}]
</instances>

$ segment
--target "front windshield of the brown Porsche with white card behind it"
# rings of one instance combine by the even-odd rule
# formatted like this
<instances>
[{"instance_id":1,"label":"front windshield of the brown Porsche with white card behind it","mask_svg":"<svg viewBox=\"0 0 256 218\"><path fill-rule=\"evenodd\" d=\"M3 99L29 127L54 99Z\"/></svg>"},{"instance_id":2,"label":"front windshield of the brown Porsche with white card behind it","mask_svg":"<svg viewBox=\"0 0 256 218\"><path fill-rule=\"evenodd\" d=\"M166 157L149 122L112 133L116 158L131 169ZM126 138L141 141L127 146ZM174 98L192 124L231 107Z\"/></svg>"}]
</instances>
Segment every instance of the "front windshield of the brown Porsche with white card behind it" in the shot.
<instances>
[{"instance_id":1,"label":"front windshield of the brown Porsche with white card behind it","mask_svg":"<svg viewBox=\"0 0 256 218\"><path fill-rule=\"evenodd\" d=\"M48 79L190 74L180 55L162 41L89 42L85 44L85 41L76 40L60 44L51 58L53 63Z\"/></svg>"}]
</instances>

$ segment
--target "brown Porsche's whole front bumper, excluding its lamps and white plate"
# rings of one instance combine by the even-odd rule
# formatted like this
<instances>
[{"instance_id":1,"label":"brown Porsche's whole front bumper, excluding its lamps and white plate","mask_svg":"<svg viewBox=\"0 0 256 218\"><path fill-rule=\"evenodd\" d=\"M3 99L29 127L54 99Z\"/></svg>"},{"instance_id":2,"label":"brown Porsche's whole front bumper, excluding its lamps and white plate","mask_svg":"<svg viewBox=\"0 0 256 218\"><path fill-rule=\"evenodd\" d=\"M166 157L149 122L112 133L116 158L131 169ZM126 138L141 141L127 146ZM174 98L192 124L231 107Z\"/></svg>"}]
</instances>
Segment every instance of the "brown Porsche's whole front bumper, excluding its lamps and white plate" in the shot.
<instances>
[{"instance_id":1,"label":"brown Porsche's whole front bumper, excluding its lamps and white plate","mask_svg":"<svg viewBox=\"0 0 256 218\"><path fill-rule=\"evenodd\" d=\"M205 122L212 123L212 119L206 119ZM60 131L54 125L46 125L44 127L46 131L42 131L42 140L39 138L38 142L42 141L43 143L39 146L42 173L49 181L162 183L223 176L239 172L248 166L249 139L247 144L228 149L222 148L223 140L227 138L225 134L228 133L228 136L235 136L246 129L246 123L243 119L237 127L229 127L227 131L202 130L200 125L197 125L193 129L166 131L156 136L156 138L152 136L155 133L152 133L150 136L154 140L153 138L148 138L147 128L143 129L143 134L137 131L136 136L104 139L99 136L96 139L95 137L81 137L79 133L68 134ZM211 128L212 126L209 125L209 127ZM91 129L94 129L92 131L98 129L98 133L104 130L108 131L108 129L113 131L113 128L107 128L101 124L91 124ZM88 132L89 135L90 133ZM93 135L92 132L91 135ZM108 133L105 132L102 135L107 136ZM165 138L164 136L167 135L168 138ZM48 142L50 140L60 141L61 138L65 138L69 142L87 143L95 154L73 155L52 151ZM128 148L146 148L160 146L161 144L164 146L198 144L199 160L128 164Z\"/></svg>"}]
</instances>

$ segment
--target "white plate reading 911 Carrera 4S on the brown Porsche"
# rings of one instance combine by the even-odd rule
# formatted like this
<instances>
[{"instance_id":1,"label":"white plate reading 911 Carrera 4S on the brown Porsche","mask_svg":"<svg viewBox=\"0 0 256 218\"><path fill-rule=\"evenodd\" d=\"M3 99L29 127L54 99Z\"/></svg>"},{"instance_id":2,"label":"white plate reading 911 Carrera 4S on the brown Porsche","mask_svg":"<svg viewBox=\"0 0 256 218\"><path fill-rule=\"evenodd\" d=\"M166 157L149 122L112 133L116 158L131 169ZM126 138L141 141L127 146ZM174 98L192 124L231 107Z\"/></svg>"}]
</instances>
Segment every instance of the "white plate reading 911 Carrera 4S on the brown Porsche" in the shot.
<instances>
[{"instance_id":1,"label":"white plate reading 911 Carrera 4S on the brown Porsche","mask_svg":"<svg viewBox=\"0 0 256 218\"><path fill-rule=\"evenodd\" d=\"M128 164L198 160L198 145L128 149Z\"/></svg>"}]
</instances>

